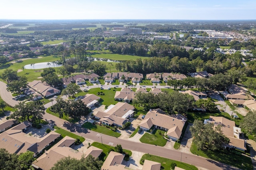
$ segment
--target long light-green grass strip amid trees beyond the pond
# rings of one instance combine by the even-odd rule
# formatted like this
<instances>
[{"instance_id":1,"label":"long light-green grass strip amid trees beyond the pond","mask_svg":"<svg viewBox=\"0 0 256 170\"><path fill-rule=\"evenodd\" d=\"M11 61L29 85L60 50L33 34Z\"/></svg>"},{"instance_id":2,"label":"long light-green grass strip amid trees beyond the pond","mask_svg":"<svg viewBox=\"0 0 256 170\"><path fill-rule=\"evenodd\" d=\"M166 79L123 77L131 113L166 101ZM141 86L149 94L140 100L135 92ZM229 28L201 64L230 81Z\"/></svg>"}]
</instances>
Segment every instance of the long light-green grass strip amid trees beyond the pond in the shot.
<instances>
[{"instance_id":1,"label":"long light-green grass strip amid trees beyond the pond","mask_svg":"<svg viewBox=\"0 0 256 170\"><path fill-rule=\"evenodd\" d=\"M140 57L136 55L120 55L120 54L113 54L113 53L98 53L98 54L93 54L91 55L92 57L95 58L107 58L107 59L112 59L112 60L118 60L118 61L123 61L123 60L136 60L136 59L148 59L150 57Z\"/></svg>"}]
</instances>

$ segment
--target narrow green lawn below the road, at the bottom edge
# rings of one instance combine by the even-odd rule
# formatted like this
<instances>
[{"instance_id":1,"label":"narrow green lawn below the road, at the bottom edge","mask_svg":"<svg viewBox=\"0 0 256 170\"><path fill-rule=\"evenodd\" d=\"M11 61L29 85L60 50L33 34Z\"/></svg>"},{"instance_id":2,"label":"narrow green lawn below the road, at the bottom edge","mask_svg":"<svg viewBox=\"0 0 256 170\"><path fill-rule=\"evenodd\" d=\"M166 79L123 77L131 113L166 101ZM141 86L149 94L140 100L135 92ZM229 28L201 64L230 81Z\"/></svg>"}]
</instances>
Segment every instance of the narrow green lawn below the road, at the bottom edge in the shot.
<instances>
[{"instance_id":1,"label":"narrow green lawn below the road, at the bottom edge","mask_svg":"<svg viewBox=\"0 0 256 170\"><path fill-rule=\"evenodd\" d=\"M198 170L198 168L196 168L196 166L194 166L194 165L186 164L184 162L171 160L168 158L163 158L163 157L155 156L155 155L151 155L151 154L144 154L142 156L141 160L151 160L154 162L159 162L159 163L161 163L161 170L170 170L172 162L174 162L177 167L183 168L185 170ZM140 164L142 163L141 160L140 160Z\"/></svg>"}]
</instances>

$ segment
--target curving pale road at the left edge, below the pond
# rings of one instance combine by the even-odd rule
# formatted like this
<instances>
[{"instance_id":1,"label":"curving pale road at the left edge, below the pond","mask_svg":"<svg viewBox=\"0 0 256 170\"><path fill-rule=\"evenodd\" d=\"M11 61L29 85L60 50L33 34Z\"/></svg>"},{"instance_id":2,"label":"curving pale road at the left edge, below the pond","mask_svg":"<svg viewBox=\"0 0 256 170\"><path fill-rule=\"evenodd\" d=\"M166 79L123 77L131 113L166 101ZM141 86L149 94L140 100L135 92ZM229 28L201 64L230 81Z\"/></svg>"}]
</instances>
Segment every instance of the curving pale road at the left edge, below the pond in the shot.
<instances>
[{"instance_id":1,"label":"curving pale road at the left edge, below the pond","mask_svg":"<svg viewBox=\"0 0 256 170\"><path fill-rule=\"evenodd\" d=\"M10 106L14 107L15 105L18 105L19 102L16 100L13 100L13 96L10 92L6 90L6 83L0 81L0 95L2 99Z\"/></svg>"}]
</instances>

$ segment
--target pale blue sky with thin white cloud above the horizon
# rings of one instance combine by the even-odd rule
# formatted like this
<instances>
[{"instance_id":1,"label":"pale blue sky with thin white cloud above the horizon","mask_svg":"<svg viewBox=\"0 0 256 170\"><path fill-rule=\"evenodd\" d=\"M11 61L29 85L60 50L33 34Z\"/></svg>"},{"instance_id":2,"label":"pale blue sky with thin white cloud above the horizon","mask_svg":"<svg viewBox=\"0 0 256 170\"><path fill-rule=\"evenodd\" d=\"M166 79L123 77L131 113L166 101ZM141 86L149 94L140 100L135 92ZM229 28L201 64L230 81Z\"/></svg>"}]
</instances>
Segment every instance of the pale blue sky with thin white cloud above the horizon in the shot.
<instances>
[{"instance_id":1,"label":"pale blue sky with thin white cloud above the horizon","mask_svg":"<svg viewBox=\"0 0 256 170\"><path fill-rule=\"evenodd\" d=\"M0 0L0 4L0 19L256 19L256 0Z\"/></svg>"}]
</instances>

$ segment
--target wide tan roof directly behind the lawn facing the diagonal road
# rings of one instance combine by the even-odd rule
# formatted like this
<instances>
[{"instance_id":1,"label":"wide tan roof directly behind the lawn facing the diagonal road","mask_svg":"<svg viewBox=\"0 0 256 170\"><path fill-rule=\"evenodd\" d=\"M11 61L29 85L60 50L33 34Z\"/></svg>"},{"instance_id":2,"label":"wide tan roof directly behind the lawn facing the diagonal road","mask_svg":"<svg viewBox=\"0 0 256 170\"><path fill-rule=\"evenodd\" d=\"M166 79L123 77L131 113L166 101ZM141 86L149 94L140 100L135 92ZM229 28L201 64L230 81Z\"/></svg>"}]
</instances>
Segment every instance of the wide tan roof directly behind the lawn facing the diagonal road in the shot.
<instances>
[{"instance_id":1,"label":"wide tan roof directly behind the lawn facing the diagonal road","mask_svg":"<svg viewBox=\"0 0 256 170\"><path fill-rule=\"evenodd\" d=\"M176 135L174 135L174 136L178 136L178 138L180 138L181 131L185 125L185 122L182 120L178 120L174 117L170 117L168 115L164 115L161 113L154 113L152 111L148 111L148 113L146 114L144 119L145 119L145 121L142 121L140 123L140 127L148 128L148 127L150 127L151 123L153 125L157 125L157 126L160 126L160 127L166 128L166 129L171 129L173 127L176 127L179 130L177 130L175 128L175 129L172 129L172 132L176 133ZM147 119L150 119L151 122Z\"/></svg>"}]
</instances>

